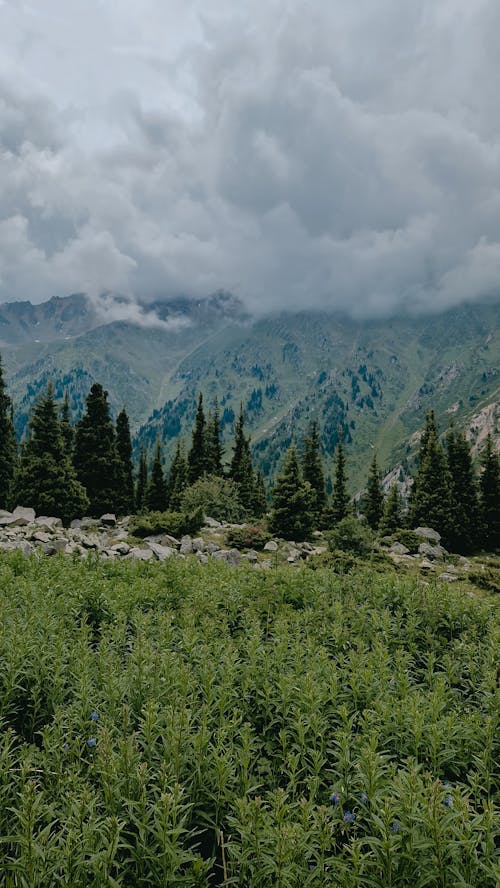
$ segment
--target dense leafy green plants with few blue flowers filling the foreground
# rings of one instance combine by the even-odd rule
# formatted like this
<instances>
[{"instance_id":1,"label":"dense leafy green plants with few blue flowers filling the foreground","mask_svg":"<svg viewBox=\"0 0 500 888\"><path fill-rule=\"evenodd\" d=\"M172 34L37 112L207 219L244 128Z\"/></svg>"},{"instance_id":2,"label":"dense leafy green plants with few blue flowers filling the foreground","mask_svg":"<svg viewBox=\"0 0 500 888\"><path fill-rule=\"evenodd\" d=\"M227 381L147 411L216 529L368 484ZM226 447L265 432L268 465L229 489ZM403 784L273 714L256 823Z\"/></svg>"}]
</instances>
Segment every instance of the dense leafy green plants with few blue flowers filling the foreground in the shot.
<instances>
[{"instance_id":1,"label":"dense leafy green plants with few blue flowers filling the foreground","mask_svg":"<svg viewBox=\"0 0 500 888\"><path fill-rule=\"evenodd\" d=\"M0 560L0 884L494 888L495 599Z\"/></svg>"}]
</instances>

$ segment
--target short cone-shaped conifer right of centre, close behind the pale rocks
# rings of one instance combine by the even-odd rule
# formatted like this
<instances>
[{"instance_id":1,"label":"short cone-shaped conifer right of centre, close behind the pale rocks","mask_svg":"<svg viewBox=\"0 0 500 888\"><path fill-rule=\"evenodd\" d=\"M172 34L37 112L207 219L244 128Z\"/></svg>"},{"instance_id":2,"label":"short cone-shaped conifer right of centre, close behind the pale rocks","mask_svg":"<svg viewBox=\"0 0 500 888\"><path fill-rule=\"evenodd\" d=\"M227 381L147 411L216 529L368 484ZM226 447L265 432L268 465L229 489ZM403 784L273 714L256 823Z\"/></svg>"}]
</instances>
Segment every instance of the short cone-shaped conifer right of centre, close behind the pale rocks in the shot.
<instances>
[{"instance_id":1,"label":"short cone-shaped conifer right of centre, close behind the pale rocks","mask_svg":"<svg viewBox=\"0 0 500 888\"><path fill-rule=\"evenodd\" d=\"M314 526L315 494L303 481L297 450L292 444L272 493L270 528L288 540L306 539Z\"/></svg>"}]
</instances>

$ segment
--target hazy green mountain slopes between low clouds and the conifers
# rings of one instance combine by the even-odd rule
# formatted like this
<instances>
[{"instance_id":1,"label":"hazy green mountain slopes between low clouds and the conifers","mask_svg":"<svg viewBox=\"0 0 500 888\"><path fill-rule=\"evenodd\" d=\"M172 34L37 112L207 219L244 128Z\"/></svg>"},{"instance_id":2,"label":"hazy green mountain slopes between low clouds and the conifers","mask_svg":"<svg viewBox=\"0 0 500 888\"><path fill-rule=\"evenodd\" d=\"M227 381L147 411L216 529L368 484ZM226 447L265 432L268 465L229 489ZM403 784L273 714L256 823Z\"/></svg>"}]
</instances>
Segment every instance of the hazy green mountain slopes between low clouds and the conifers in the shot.
<instances>
[{"instance_id":1,"label":"hazy green mountain slopes between low clouds and the conifers","mask_svg":"<svg viewBox=\"0 0 500 888\"><path fill-rule=\"evenodd\" d=\"M388 472L407 467L429 407L442 427L454 416L473 441L498 432L499 314L499 303L484 303L365 322L320 312L252 320L226 293L159 301L139 314L75 295L1 305L0 351L19 433L49 379L61 398L69 390L75 417L98 380L115 412L127 405L136 447L160 435L171 450L189 434L202 391L207 407L219 399L228 446L243 403L268 475L310 419L320 422L328 458L341 428L357 489L374 447Z\"/></svg>"}]
</instances>

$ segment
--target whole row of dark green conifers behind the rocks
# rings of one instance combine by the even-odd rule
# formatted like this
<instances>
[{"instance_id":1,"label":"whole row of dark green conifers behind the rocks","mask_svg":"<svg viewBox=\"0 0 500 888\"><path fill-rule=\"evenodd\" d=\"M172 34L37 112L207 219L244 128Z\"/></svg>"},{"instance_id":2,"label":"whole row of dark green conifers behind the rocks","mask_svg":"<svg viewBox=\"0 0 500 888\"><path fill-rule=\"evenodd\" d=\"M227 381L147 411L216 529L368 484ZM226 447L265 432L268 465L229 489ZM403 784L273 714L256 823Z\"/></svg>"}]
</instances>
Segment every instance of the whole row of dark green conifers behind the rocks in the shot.
<instances>
[{"instance_id":1,"label":"whole row of dark green conifers behind the rocks","mask_svg":"<svg viewBox=\"0 0 500 888\"><path fill-rule=\"evenodd\" d=\"M381 535L427 525L452 551L500 545L500 463L491 436L477 474L464 433L452 425L443 446L432 411L422 430L408 503L397 484L384 494L374 453L366 491L355 509L341 437L333 489L327 496L316 421L311 422L300 453L292 443L266 496L262 473L253 465L242 407L229 461L224 459L217 399L207 414L200 394L189 449L178 439L165 472L158 440L151 464L141 450L135 473L127 412L123 408L113 423L107 397L102 385L94 383L85 413L73 426L68 396L58 407L49 384L32 411L28 437L19 449L0 364L0 508L31 505L38 514L58 515L67 523L83 514L110 511L121 515L181 511L202 501L208 490L212 501L219 498L232 505L233 516L260 519L267 514L270 530L289 539L305 539L314 529L332 528L358 511Z\"/></svg>"}]
</instances>

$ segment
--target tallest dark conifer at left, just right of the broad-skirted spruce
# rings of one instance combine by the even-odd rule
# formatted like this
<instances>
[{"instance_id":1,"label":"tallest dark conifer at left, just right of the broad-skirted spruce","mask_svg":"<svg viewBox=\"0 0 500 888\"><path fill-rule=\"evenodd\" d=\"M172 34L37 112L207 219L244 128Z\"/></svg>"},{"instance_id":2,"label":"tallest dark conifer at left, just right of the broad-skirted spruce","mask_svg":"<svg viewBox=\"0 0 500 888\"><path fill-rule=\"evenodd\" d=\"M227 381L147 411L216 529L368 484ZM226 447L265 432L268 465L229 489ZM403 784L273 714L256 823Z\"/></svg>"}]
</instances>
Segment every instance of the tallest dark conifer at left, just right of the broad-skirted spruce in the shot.
<instances>
[{"instance_id":1,"label":"tallest dark conifer at left, just right of the broad-skirted spruce","mask_svg":"<svg viewBox=\"0 0 500 888\"><path fill-rule=\"evenodd\" d=\"M116 509L120 463L115 429L109 415L108 393L94 383L87 409L76 425L74 464L87 491L90 514L99 516Z\"/></svg>"}]
</instances>

